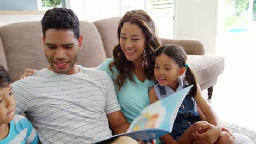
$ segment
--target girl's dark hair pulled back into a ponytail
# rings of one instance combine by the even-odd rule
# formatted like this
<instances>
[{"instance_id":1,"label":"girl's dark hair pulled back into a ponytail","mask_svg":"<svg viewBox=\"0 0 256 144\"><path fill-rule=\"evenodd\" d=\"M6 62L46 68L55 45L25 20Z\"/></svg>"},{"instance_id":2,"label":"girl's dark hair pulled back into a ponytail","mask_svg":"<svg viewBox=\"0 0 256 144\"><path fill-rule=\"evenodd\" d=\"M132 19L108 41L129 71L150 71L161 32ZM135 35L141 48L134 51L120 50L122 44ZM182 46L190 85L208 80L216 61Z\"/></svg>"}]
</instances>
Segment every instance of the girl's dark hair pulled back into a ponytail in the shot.
<instances>
[{"instance_id":1,"label":"girl's dark hair pulled back into a ponytail","mask_svg":"<svg viewBox=\"0 0 256 144\"><path fill-rule=\"evenodd\" d=\"M185 67L187 54L182 46L176 44L163 45L155 52L154 58L161 54L172 58L179 65L179 68ZM197 80L194 71L189 66L187 67L184 79L188 81L189 85L194 85L189 94L194 97L197 91Z\"/></svg>"}]
</instances>

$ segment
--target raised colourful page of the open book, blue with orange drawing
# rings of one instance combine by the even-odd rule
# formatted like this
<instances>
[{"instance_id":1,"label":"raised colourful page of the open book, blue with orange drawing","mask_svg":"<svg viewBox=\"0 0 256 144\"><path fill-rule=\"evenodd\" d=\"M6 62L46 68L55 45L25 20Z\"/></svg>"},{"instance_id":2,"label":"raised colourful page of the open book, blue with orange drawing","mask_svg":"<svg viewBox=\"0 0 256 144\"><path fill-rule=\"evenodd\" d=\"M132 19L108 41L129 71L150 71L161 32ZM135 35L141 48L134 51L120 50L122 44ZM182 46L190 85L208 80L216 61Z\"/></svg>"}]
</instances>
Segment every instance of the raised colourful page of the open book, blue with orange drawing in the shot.
<instances>
[{"instance_id":1,"label":"raised colourful page of the open book, blue with orange drawing","mask_svg":"<svg viewBox=\"0 0 256 144\"><path fill-rule=\"evenodd\" d=\"M131 123L127 132L154 128L171 132L179 107L192 86L147 106Z\"/></svg>"}]
</instances>

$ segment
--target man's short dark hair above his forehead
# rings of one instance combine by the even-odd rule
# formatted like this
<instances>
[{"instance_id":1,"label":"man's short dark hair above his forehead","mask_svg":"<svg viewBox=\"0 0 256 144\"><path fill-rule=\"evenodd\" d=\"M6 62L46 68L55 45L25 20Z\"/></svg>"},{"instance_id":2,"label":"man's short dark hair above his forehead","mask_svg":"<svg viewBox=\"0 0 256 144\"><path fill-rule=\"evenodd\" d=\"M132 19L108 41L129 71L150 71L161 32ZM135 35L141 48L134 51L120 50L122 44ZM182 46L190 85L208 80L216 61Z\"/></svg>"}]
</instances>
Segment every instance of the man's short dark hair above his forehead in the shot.
<instances>
[{"instance_id":1,"label":"man's short dark hair above his forehead","mask_svg":"<svg viewBox=\"0 0 256 144\"><path fill-rule=\"evenodd\" d=\"M71 10L66 8L53 8L44 14L41 20L43 35L50 29L71 29L75 37L79 38L79 20L77 15Z\"/></svg>"}]
</instances>

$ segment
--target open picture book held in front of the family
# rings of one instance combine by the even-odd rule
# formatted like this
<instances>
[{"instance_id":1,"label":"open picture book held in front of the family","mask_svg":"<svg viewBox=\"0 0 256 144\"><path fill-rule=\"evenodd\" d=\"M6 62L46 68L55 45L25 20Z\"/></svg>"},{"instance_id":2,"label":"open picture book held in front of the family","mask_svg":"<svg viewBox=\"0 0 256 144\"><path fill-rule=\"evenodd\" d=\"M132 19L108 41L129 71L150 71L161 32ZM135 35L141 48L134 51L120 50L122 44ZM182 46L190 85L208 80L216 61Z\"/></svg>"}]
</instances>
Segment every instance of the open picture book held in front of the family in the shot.
<instances>
[{"instance_id":1,"label":"open picture book held in front of the family","mask_svg":"<svg viewBox=\"0 0 256 144\"><path fill-rule=\"evenodd\" d=\"M145 109L139 113L139 116L131 123L127 133L114 135L108 139L95 141L94 143L105 142L119 136L129 136L135 140L149 142L160 136L171 133L179 107L192 86L193 85L168 95L145 107Z\"/></svg>"}]
</instances>

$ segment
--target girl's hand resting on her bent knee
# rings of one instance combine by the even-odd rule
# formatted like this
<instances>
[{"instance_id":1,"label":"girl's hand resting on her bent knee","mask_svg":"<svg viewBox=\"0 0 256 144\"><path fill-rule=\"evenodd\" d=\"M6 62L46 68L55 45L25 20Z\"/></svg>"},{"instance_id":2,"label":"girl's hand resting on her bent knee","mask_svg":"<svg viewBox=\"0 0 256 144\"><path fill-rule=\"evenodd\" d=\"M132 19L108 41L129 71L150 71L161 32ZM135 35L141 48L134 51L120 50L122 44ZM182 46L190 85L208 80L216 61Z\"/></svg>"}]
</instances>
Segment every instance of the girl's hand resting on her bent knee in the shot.
<instances>
[{"instance_id":1,"label":"girl's hand resting on her bent knee","mask_svg":"<svg viewBox=\"0 0 256 144\"><path fill-rule=\"evenodd\" d=\"M206 132L200 134L200 131ZM200 141L200 143L214 143L220 136L221 132L222 131L218 126L205 124L199 128L199 131L196 131L196 133L193 133L192 135L194 139Z\"/></svg>"}]
</instances>

